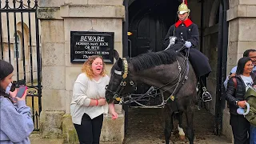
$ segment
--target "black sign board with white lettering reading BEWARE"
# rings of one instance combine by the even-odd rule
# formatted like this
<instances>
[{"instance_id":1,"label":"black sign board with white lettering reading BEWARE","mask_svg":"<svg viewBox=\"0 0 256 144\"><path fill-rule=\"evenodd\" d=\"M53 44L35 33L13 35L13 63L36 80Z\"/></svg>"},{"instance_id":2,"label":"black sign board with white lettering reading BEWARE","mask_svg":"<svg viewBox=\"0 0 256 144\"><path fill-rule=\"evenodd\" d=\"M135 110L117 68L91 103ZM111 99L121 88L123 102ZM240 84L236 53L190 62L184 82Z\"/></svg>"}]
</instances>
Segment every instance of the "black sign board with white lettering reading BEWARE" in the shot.
<instances>
[{"instance_id":1,"label":"black sign board with white lettering reading BEWARE","mask_svg":"<svg viewBox=\"0 0 256 144\"><path fill-rule=\"evenodd\" d=\"M86 62L91 55L101 55L106 63L113 63L114 32L71 31L70 61Z\"/></svg>"}]
</instances>

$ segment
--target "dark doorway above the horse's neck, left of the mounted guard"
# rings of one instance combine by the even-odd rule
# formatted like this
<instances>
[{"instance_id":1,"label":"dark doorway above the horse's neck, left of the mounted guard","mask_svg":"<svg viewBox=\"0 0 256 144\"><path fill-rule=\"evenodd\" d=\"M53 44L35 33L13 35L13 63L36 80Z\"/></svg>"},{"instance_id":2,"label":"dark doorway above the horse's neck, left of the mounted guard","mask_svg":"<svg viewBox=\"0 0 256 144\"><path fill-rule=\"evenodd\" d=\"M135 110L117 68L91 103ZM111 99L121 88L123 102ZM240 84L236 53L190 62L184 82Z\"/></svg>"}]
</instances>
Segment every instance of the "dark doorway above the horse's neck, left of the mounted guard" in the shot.
<instances>
[{"instance_id":1,"label":"dark doorway above the horse's neck, left of the mounted guard","mask_svg":"<svg viewBox=\"0 0 256 144\"><path fill-rule=\"evenodd\" d=\"M129 6L129 36L131 50L129 56L160 51L163 38L170 25L176 21L178 0L137 0Z\"/></svg>"}]
</instances>

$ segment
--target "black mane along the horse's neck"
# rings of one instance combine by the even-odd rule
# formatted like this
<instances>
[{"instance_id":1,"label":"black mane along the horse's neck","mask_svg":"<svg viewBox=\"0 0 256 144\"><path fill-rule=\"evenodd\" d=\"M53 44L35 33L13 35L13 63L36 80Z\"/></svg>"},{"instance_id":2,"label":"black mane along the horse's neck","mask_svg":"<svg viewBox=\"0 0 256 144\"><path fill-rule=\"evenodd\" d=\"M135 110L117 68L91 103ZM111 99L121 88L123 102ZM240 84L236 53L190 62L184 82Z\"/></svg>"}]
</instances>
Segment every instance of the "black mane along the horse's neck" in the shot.
<instances>
[{"instance_id":1,"label":"black mane along the horse's neck","mask_svg":"<svg viewBox=\"0 0 256 144\"><path fill-rule=\"evenodd\" d=\"M159 52L149 51L145 54L139 54L137 57L130 58L129 62L132 63L135 71L140 71L154 66L176 62L178 54L170 49Z\"/></svg>"}]
</instances>

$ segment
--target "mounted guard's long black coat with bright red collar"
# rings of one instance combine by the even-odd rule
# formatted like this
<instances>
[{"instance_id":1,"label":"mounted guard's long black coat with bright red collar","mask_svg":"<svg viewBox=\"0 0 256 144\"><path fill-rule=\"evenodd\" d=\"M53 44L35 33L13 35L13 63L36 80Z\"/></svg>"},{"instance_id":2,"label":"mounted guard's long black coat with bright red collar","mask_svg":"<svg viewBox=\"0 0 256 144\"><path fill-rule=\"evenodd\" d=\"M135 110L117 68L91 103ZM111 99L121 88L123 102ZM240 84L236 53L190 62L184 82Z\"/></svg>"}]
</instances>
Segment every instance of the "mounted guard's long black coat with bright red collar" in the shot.
<instances>
[{"instance_id":1,"label":"mounted guard's long black coat with bright red collar","mask_svg":"<svg viewBox=\"0 0 256 144\"><path fill-rule=\"evenodd\" d=\"M187 19L185 22L178 21L174 25L170 26L170 29L168 30L164 40L165 47L167 47L170 43L170 36L177 37L176 45L170 47L174 50L180 49L185 41L192 43L193 48L190 48L189 59L197 77L201 77L211 72L209 59L205 54L202 54L198 50L199 33L198 26L196 24L191 22L190 19Z\"/></svg>"}]
</instances>

